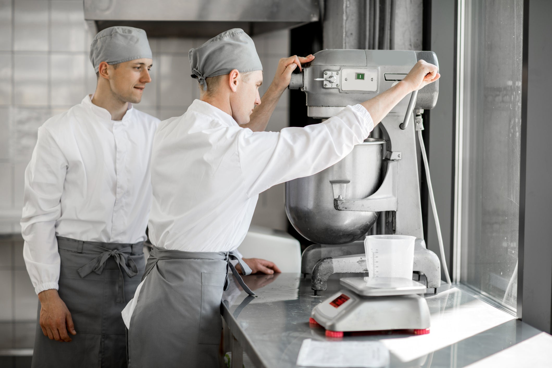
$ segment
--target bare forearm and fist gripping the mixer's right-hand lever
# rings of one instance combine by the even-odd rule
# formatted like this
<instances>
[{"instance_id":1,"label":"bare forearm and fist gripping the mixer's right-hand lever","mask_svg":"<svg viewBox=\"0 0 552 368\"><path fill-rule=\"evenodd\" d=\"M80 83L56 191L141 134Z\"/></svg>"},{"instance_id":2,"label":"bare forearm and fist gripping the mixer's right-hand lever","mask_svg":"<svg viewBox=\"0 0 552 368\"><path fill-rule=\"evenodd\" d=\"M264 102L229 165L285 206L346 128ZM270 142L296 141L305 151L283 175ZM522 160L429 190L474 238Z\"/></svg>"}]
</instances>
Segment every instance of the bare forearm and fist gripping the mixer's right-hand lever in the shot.
<instances>
[{"instance_id":1,"label":"bare forearm and fist gripping the mixer's right-hand lever","mask_svg":"<svg viewBox=\"0 0 552 368\"><path fill-rule=\"evenodd\" d=\"M437 66L420 60L402 81L361 105L370 113L374 125L378 124L408 93L437 81L440 76Z\"/></svg>"}]
</instances>

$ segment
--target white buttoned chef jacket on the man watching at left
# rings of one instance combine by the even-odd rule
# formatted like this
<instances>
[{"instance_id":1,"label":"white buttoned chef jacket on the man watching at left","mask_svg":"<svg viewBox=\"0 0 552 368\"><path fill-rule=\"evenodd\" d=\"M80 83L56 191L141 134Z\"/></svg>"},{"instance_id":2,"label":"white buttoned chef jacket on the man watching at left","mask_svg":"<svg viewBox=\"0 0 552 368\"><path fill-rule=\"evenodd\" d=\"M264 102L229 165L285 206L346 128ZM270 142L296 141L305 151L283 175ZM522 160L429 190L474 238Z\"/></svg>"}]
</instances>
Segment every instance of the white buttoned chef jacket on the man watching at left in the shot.
<instances>
[{"instance_id":1,"label":"white buttoned chef jacket on the man watching at left","mask_svg":"<svg viewBox=\"0 0 552 368\"><path fill-rule=\"evenodd\" d=\"M146 239L150 157L159 119L129 103L123 120L91 96L48 119L25 170L23 257L35 292L58 289L56 236L136 243Z\"/></svg>"}]
</instances>

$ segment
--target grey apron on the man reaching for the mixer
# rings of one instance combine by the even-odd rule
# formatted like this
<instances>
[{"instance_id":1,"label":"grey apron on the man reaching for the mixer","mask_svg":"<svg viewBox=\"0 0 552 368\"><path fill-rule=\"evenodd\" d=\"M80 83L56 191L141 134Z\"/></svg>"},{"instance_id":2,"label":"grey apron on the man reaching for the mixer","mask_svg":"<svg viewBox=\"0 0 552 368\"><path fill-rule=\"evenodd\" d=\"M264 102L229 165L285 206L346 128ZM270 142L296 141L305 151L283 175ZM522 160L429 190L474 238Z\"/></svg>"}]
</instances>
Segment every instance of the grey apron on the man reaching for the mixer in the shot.
<instances>
[{"instance_id":1,"label":"grey apron on the man reaching for the mixer","mask_svg":"<svg viewBox=\"0 0 552 368\"><path fill-rule=\"evenodd\" d=\"M235 252L183 252L153 247L128 330L129 367L219 367L222 291ZM146 278L147 276L147 278Z\"/></svg>"}]
</instances>

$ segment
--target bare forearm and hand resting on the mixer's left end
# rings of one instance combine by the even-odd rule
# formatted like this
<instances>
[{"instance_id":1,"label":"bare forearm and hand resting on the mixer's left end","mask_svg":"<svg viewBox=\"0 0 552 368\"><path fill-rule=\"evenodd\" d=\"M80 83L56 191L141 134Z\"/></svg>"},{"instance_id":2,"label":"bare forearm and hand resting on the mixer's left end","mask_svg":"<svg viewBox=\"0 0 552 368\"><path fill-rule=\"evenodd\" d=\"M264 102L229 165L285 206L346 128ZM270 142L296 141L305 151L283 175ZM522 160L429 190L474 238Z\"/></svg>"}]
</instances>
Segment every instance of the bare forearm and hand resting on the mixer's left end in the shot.
<instances>
[{"instance_id":1,"label":"bare forearm and hand resting on the mixer's left end","mask_svg":"<svg viewBox=\"0 0 552 368\"><path fill-rule=\"evenodd\" d=\"M267 128L268 120L274 112L274 108L278 104L278 100L284 93L284 90L288 88L291 73L299 67L301 70L301 64L310 62L314 59L314 56L309 55L306 57L299 57L297 55L281 58L278 62L278 68L272 83L267 89L267 92L263 94L261 98L261 104L253 109L253 113L250 117L250 122L243 124L242 127L249 128L254 132L262 132Z\"/></svg>"}]
</instances>

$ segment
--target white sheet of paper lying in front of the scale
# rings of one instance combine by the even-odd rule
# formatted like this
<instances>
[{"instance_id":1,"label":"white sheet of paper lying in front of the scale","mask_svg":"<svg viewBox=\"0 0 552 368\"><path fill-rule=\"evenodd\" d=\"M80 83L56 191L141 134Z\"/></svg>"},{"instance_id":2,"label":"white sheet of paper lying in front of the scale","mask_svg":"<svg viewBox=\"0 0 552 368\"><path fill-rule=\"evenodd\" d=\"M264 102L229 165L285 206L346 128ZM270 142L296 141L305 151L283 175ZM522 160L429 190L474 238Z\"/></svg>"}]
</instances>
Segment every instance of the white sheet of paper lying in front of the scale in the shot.
<instances>
[{"instance_id":1,"label":"white sheet of paper lying in front of the scale","mask_svg":"<svg viewBox=\"0 0 552 368\"><path fill-rule=\"evenodd\" d=\"M301 344L297 365L310 367L382 368L389 365L389 350L377 341L316 341Z\"/></svg>"}]
</instances>

